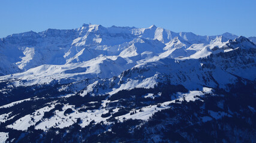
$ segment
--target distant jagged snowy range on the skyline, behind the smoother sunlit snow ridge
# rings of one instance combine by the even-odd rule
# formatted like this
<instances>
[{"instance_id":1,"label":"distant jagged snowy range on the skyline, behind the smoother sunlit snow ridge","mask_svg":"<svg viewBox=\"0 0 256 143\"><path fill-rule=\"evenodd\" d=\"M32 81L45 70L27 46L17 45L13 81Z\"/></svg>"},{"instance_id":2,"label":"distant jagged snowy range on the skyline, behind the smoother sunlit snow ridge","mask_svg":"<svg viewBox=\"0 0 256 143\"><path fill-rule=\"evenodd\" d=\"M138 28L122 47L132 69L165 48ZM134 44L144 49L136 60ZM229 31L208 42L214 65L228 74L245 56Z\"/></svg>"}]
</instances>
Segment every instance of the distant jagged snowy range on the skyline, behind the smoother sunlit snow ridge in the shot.
<instances>
[{"instance_id":1,"label":"distant jagged snowy range on the skyline, behind the smoother sunlit snow ridge","mask_svg":"<svg viewBox=\"0 0 256 143\"><path fill-rule=\"evenodd\" d=\"M0 41L0 55L6 70L2 74L26 71L44 64L83 63L100 55L125 57L131 63L158 58L201 58L237 47L252 47L252 42L236 35L200 36L191 32L171 32L156 27L104 27L83 24L78 29L47 29L43 32L13 34ZM224 47L225 46L225 47ZM227 48L231 47L231 48ZM4 64L3 64L4 65ZM19 67L10 70L11 67ZM3 69L3 68L2 68Z\"/></svg>"}]
</instances>

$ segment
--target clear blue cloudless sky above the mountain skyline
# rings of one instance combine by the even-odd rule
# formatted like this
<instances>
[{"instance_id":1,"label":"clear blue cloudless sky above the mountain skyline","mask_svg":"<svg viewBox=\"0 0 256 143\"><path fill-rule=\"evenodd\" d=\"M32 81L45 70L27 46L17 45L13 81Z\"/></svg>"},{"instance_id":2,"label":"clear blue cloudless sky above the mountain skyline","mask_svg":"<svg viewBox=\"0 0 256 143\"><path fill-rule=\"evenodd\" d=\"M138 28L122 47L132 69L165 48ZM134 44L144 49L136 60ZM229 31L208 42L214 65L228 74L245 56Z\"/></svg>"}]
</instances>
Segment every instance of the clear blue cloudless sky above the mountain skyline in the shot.
<instances>
[{"instance_id":1,"label":"clear blue cloudless sky above the mountain skyline","mask_svg":"<svg viewBox=\"0 0 256 143\"><path fill-rule=\"evenodd\" d=\"M83 23L158 27L174 32L256 36L256 0L1 0L0 38Z\"/></svg>"}]
</instances>

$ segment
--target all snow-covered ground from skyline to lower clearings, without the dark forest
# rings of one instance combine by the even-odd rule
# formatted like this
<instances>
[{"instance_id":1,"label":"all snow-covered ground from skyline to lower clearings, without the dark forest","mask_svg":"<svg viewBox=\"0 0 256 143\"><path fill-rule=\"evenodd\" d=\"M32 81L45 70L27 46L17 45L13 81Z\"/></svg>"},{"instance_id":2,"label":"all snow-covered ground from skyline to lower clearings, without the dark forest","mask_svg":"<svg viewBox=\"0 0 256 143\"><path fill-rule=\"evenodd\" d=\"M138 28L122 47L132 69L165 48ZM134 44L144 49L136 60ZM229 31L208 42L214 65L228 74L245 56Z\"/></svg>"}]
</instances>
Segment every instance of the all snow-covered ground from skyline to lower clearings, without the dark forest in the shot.
<instances>
[{"instance_id":1,"label":"all snow-covered ground from skyline to lower clearings, without the dark forest","mask_svg":"<svg viewBox=\"0 0 256 143\"><path fill-rule=\"evenodd\" d=\"M252 71L256 71L256 57L253 54L235 59L220 56L210 62L203 60L213 54L233 55L240 49L255 49L251 41L230 33L200 36L189 32L171 32L154 25L135 28L83 24L71 30L47 29L39 33L19 33L0 39L0 83L8 80L8 88L55 81L68 83L58 90L71 89L73 94L59 98L73 96L78 91L81 96L112 96L122 90L154 88L164 82L183 85L189 90L187 93L176 93L173 99L162 102L160 107L149 105L141 108L141 111L133 109L137 112L135 114L116 117L121 122L127 119L148 120L156 111L170 108L168 104L176 100L200 100L198 97L204 94L213 94L212 88L215 87L228 90L227 85L236 83L237 76L254 81L256 74ZM8 88L0 92L4 94ZM158 96L161 96L161 92L157 95L149 93L144 98L154 99ZM31 99L11 102L0 108L27 100ZM103 101L103 107L107 102ZM64 105L63 111L56 110L55 116L50 119L42 119L44 112L55 105L53 102L50 107L23 116L7 128L26 130L40 120L35 129L65 128L76 123L78 118L82 120L82 127L89 125L92 120L108 123L106 120L109 117L101 117L101 114L108 112L106 108L80 113L79 108L69 104ZM71 108L73 113L64 115L67 108ZM115 108L113 111L116 113L118 110ZM9 115L1 114L0 122L13 118ZM202 117L202 121L230 115L209 111L209 116ZM2 136L6 134L0 133L0 142L7 139Z\"/></svg>"}]
</instances>

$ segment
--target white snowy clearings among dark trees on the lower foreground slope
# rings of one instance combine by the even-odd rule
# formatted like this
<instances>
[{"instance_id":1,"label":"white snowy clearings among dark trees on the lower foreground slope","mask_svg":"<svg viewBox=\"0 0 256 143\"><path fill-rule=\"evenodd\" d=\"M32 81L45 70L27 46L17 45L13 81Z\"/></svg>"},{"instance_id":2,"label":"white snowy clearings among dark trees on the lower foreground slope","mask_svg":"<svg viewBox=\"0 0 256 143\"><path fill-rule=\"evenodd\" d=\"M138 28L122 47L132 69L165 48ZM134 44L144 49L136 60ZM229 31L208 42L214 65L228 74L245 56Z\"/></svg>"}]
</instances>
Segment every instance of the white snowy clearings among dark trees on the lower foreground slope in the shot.
<instances>
[{"instance_id":1,"label":"white snowy clearings among dark trees on the lower foreground slope","mask_svg":"<svg viewBox=\"0 0 256 143\"><path fill-rule=\"evenodd\" d=\"M203 93L204 94L212 93L212 89L204 87L203 91L189 91L188 93L184 93L184 94L178 93L178 96L176 96L177 98L171 101L160 103L161 105L160 107L157 107L157 105L149 105L146 107L142 107L140 109L131 110L131 112L136 110L137 113L135 114L128 113L115 118L120 120L121 122L127 119L148 120L149 117L152 116L157 111L170 108L171 106L169 104L171 102L175 102L175 100L183 101L183 99L185 98L185 100L188 102L195 101L195 100L198 100L198 98L195 97L195 95L201 96L201 95L204 95ZM152 94L149 94L147 96L152 96ZM161 96L161 93L158 93L158 96ZM35 129L47 130L52 127L65 128L76 123L78 118L80 118L82 121L79 124L82 127L88 126L89 123L92 122L92 120L94 120L96 123L103 122L105 124L110 124L111 122L107 122L107 119L109 119L109 117L106 117L106 118L101 117L101 114L106 114L109 111L106 108L107 102L110 102L110 101L104 100L102 102L101 105L103 108L98 108L96 110L87 110L86 112L79 112L78 110L80 108L74 108L74 105L65 104L64 107L62 108L62 111L56 110L54 116L50 117L49 119L43 119L44 112L50 111L52 108L55 107L56 103L53 102L50 106L40 108L39 110L36 110L32 114L28 114L24 117L21 117L20 119L16 120L16 122L14 122L13 124L8 125L7 128L13 128L17 130L26 130L29 128L29 126L35 125L35 123L37 123L39 120L41 120L41 122L35 126ZM112 102L115 102L115 101L112 101ZM64 115L64 111L67 110L68 108L71 108L73 110L73 113ZM113 113L118 112L118 110L119 110L118 107L113 109ZM216 119L219 119L222 116L228 116L226 113L214 113L213 111L211 111L210 114ZM0 119L1 117L5 117L5 116L8 116L8 114L1 115ZM32 118L34 120L31 120Z\"/></svg>"}]
</instances>

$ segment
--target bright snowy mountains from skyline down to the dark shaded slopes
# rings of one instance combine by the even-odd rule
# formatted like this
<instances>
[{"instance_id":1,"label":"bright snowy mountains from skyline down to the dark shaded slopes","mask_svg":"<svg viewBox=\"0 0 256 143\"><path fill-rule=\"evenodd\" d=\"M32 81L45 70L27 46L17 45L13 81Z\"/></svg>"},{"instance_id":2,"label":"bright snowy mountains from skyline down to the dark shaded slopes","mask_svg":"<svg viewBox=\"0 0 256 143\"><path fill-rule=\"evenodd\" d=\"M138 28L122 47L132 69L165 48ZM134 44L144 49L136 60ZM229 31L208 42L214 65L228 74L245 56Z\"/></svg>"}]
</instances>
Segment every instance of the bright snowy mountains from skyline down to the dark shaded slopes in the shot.
<instances>
[{"instance_id":1,"label":"bright snowy mountains from skyline down to the dark shaded slopes","mask_svg":"<svg viewBox=\"0 0 256 143\"><path fill-rule=\"evenodd\" d=\"M97 24L83 24L71 30L13 34L0 39L0 80L19 79L14 85L20 86L53 80L109 78L147 61L198 59L240 46L255 46L240 37L232 41L234 38L238 37L230 33L200 36L156 26L103 27ZM237 41L245 42L237 45Z\"/></svg>"}]
</instances>

